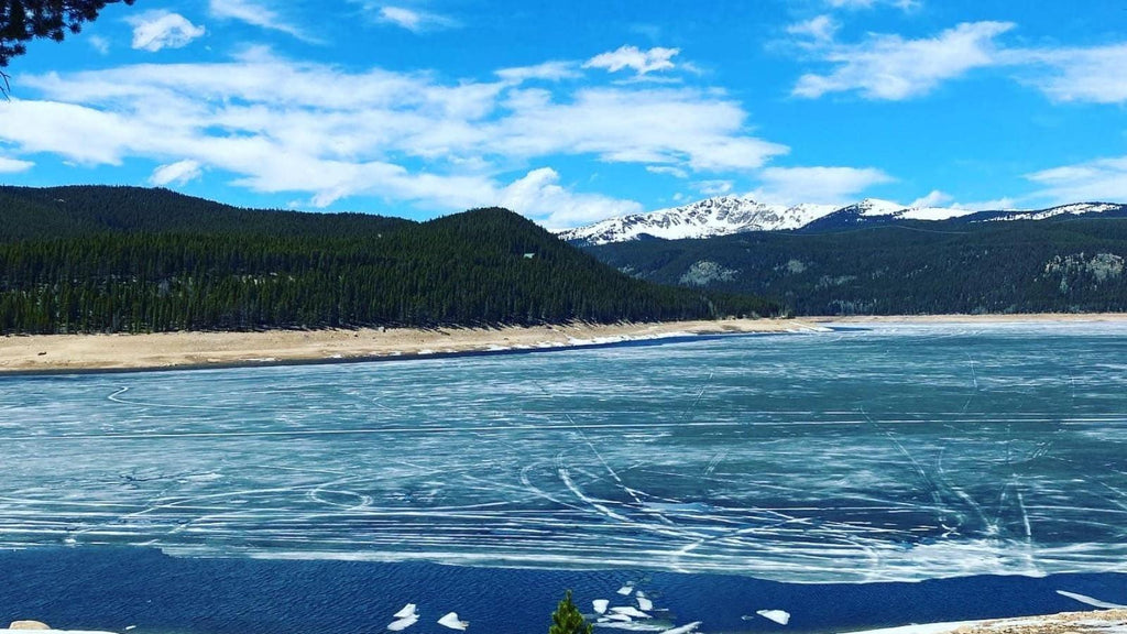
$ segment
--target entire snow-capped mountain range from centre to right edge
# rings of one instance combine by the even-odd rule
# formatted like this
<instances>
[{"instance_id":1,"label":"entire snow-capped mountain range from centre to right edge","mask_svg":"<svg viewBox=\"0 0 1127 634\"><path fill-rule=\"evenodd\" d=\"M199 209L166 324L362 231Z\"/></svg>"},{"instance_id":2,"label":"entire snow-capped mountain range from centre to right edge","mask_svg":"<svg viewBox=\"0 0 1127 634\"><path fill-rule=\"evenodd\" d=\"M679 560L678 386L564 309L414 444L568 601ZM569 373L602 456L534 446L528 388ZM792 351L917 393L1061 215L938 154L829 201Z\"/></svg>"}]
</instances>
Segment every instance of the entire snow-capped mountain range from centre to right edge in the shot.
<instances>
[{"instance_id":1,"label":"entire snow-capped mountain range from centre to right edge","mask_svg":"<svg viewBox=\"0 0 1127 634\"><path fill-rule=\"evenodd\" d=\"M1004 210L975 212L960 208L914 208L891 201L864 199L845 206L765 204L744 196L706 199L684 206L611 218L586 227L567 229L559 237L586 245L624 243L642 237L676 240L709 238L744 231L786 229L823 230L851 226L896 222L898 220L951 220L991 222L1045 220L1063 214L1127 215L1127 205L1076 203L1045 210Z\"/></svg>"}]
</instances>

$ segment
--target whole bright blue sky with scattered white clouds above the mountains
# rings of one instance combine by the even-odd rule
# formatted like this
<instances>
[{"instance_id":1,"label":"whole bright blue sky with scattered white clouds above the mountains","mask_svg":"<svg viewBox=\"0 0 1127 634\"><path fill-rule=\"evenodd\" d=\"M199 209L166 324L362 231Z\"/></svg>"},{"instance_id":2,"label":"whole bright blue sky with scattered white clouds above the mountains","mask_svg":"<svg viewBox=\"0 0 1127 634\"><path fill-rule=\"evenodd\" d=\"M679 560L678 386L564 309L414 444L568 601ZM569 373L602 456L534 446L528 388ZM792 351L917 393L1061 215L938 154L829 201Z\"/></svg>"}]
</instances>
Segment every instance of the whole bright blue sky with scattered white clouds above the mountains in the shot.
<instances>
[{"instance_id":1,"label":"whole bright blue sky with scattered white clouds above the mountains","mask_svg":"<svg viewBox=\"0 0 1127 634\"><path fill-rule=\"evenodd\" d=\"M1127 201L1112 0L137 0L8 72L6 184L551 228Z\"/></svg>"}]
</instances>

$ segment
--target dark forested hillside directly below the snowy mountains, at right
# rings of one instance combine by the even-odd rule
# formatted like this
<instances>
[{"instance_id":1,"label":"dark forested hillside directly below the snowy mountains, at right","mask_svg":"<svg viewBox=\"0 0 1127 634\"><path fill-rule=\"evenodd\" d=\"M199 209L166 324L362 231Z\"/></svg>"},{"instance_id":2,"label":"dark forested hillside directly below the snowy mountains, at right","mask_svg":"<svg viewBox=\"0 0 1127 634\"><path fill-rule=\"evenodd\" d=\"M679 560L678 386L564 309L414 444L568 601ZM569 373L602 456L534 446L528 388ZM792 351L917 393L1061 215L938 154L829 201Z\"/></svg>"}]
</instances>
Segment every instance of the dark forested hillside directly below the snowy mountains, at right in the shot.
<instances>
[{"instance_id":1,"label":"dark forested hillside directly below the snowy mountains, at right","mask_svg":"<svg viewBox=\"0 0 1127 634\"><path fill-rule=\"evenodd\" d=\"M1127 310L1127 219L902 221L591 247L659 283L780 298L799 315Z\"/></svg>"}]
</instances>

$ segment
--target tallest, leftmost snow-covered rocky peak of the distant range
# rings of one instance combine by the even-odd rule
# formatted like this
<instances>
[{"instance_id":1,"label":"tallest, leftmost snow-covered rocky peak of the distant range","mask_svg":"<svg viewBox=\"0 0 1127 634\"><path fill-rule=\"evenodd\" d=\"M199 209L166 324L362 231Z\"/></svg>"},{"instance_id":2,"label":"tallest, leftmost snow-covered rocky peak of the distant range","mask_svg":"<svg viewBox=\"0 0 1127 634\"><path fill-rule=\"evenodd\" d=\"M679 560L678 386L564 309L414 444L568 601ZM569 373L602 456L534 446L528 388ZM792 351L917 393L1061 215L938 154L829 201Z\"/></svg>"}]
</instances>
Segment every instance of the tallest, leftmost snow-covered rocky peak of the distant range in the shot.
<instances>
[{"instance_id":1,"label":"tallest, leftmost snow-covered rocky peak of the distant range","mask_svg":"<svg viewBox=\"0 0 1127 634\"><path fill-rule=\"evenodd\" d=\"M589 245L623 243L642 236L676 240L708 238L742 231L798 229L831 213L834 205L771 205L748 197L718 196L684 206L611 218L559 234L569 241Z\"/></svg>"}]
</instances>

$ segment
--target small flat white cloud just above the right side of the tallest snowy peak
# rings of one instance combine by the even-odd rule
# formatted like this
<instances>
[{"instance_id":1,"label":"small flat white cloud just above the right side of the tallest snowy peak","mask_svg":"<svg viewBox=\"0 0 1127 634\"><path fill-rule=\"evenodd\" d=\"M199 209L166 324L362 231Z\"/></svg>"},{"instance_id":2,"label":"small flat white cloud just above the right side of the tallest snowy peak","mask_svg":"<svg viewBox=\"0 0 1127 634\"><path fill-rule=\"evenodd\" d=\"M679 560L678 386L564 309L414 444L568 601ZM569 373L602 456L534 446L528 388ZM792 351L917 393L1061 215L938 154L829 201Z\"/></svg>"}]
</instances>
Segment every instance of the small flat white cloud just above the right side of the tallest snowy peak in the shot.
<instances>
[{"instance_id":1,"label":"small flat white cloud just above the right side of the tallest snowy peak","mask_svg":"<svg viewBox=\"0 0 1127 634\"><path fill-rule=\"evenodd\" d=\"M751 195L777 204L849 203L869 187L894 180L871 167L769 167L760 177L763 185Z\"/></svg>"}]
</instances>

